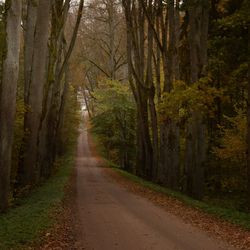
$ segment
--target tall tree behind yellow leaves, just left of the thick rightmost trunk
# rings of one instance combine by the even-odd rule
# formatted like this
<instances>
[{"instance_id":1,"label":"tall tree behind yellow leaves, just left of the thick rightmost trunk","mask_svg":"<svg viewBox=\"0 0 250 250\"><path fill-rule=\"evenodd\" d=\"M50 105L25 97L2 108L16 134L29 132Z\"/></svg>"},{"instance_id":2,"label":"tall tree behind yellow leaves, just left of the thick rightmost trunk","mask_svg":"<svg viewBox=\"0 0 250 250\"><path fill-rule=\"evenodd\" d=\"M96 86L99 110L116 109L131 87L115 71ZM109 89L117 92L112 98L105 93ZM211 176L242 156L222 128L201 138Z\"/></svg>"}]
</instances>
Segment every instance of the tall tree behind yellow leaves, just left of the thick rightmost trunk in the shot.
<instances>
[{"instance_id":1,"label":"tall tree behind yellow leaves, just left of the thick rightmost trunk","mask_svg":"<svg viewBox=\"0 0 250 250\"><path fill-rule=\"evenodd\" d=\"M155 56L158 101L161 95L171 93L175 80L179 80L178 31L179 1L157 1L154 11L141 0L147 16L148 26L155 38L157 57ZM157 15L156 15L157 13ZM154 23L154 19L156 19ZM163 66L164 84L161 90L160 68ZM164 117L160 124L159 163L154 166L156 179L164 185L177 189L180 177L179 128L170 117ZM158 136L158 131L157 131Z\"/></svg>"}]
</instances>

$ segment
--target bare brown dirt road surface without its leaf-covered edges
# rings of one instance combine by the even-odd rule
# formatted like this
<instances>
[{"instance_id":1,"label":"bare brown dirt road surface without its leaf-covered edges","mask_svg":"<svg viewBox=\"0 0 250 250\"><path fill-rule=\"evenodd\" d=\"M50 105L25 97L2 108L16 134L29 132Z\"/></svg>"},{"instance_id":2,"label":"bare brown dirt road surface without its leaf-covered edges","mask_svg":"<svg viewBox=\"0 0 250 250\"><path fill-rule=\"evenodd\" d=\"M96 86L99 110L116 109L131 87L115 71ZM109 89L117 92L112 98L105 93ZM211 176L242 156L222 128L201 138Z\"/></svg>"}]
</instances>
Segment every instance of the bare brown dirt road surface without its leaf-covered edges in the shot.
<instances>
[{"instance_id":1,"label":"bare brown dirt road surface without its leaf-covered edges","mask_svg":"<svg viewBox=\"0 0 250 250\"><path fill-rule=\"evenodd\" d=\"M82 129L76 163L78 249L233 249L128 192L97 165L90 152L87 131Z\"/></svg>"}]
</instances>

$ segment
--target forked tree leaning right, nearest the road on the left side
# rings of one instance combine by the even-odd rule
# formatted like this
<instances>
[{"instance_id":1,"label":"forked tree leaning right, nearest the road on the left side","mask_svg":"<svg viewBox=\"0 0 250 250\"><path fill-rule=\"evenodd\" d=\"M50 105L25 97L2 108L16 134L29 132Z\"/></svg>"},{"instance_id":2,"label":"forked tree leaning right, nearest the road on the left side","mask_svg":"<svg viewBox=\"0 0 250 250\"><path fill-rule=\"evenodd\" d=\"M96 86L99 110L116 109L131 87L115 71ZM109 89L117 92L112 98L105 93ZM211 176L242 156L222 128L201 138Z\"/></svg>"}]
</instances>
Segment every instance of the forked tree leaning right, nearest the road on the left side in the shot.
<instances>
[{"instance_id":1,"label":"forked tree leaning right, nearest the road on the left side","mask_svg":"<svg viewBox=\"0 0 250 250\"><path fill-rule=\"evenodd\" d=\"M46 157L43 159L43 164L46 164L46 162L49 163L49 166L51 167L51 164L54 162L55 157L57 155L57 148L58 148L58 141L60 141L60 138L58 138L60 131L59 128L61 127L61 121L63 116L63 110L65 106L65 99L67 97L67 91L68 91L68 80L67 80L67 70L68 70L68 63L69 59L71 57L73 48L75 46L75 42L77 39L78 29L80 26L82 14L83 14L83 5L84 1L81 0L79 2L79 7L76 15L76 22L74 24L74 29L72 32L72 36L69 38L69 46L66 47L67 43L65 42L64 38L64 32L65 30L62 28L60 31L62 33L62 37L59 36L59 39L57 40L57 47L59 47L59 55L57 57L57 64L56 64L56 74L54 75L54 78L52 79L52 96L51 100L48 102L48 110L47 110L47 144L45 148L45 152L47 152ZM60 9L60 8L59 8ZM59 25L63 23L65 25L66 22L66 16L69 10L69 1L64 3L64 9L65 13L62 12L62 21L59 19L57 20ZM57 17L59 15L56 15ZM60 34L59 32L59 34ZM62 46L62 47L61 47ZM60 54L61 53L61 54ZM53 53L52 53L53 54ZM63 79L64 77L64 79ZM49 94L50 96L50 94ZM50 169L44 171L45 176L49 176L51 174Z\"/></svg>"}]
</instances>

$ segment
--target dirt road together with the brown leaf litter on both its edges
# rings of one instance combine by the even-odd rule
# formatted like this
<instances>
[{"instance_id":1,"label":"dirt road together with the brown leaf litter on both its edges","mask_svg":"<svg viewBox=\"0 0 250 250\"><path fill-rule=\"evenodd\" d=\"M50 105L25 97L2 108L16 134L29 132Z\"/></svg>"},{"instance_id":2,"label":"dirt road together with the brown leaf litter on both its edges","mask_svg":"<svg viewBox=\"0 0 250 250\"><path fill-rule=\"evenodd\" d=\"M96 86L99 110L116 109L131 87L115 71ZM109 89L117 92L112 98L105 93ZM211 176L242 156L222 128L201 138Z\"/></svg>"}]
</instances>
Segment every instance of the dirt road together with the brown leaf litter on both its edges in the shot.
<instances>
[{"instance_id":1,"label":"dirt road together with the brown leaf litter on both its edges","mask_svg":"<svg viewBox=\"0 0 250 250\"><path fill-rule=\"evenodd\" d=\"M250 249L250 232L103 167L86 129L61 222L42 249Z\"/></svg>"}]
</instances>

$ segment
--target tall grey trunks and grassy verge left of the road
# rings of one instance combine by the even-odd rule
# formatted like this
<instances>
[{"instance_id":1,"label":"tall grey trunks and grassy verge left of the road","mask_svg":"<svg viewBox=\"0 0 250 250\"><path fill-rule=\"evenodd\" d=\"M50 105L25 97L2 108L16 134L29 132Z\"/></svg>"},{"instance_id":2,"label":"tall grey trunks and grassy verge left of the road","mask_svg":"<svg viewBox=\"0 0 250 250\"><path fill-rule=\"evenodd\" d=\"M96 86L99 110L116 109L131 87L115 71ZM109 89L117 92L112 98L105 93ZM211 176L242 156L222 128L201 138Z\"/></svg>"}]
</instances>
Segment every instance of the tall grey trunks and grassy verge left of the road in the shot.
<instances>
[{"instance_id":1,"label":"tall grey trunks and grassy verge left of the road","mask_svg":"<svg viewBox=\"0 0 250 250\"><path fill-rule=\"evenodd\" d=\"M70 57L83 1L69 7L0 2L0 249L39 243L72 173L81 113Z\"/></svg>"}]
</instances>

